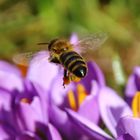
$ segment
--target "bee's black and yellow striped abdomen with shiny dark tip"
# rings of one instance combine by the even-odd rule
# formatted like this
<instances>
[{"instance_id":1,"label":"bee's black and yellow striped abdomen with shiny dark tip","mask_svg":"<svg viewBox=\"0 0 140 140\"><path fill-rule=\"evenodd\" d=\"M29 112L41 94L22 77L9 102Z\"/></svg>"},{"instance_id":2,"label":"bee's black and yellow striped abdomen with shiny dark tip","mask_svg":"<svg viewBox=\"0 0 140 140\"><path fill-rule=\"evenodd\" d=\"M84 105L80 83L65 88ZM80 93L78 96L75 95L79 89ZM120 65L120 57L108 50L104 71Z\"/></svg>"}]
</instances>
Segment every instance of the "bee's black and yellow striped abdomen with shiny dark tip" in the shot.
<instances>
[{"instance_id":1,"label":"bee's black and yellow striped abdomen with shiny dark tip","mask_svg":"<svg viewBox=\"0 0 140 140\"><path fill-rule=\"evenodd\" d=\"M83 58L74 51L61 54L61 64L77 77L83 78L87 73L87 66Z\"/></svg>"}]
</instances>

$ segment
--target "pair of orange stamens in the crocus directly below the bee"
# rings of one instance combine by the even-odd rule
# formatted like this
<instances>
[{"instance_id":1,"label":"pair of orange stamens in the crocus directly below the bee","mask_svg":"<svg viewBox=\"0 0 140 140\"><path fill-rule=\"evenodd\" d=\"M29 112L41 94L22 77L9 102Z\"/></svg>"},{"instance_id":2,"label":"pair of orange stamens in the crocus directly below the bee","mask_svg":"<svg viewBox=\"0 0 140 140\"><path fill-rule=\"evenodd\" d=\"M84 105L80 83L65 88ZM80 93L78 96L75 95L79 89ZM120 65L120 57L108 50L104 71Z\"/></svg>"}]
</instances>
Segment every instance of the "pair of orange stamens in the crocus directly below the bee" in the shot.
<instances>
[{"instance_id":1,"label":"pair of orange stamens in the crocus directly below the bee","mask_svg":"<svg viewBox=\"0 0 140 140\"><path fill-rule=\"evenodd\" d=\"M79 106L83 103L84 99L87 96L87 92L85 87L82 84L78 84L76 87L76 92L70 90L68 92L68 102L70 108L77 111Z\"/></svg>"}]
</instances>

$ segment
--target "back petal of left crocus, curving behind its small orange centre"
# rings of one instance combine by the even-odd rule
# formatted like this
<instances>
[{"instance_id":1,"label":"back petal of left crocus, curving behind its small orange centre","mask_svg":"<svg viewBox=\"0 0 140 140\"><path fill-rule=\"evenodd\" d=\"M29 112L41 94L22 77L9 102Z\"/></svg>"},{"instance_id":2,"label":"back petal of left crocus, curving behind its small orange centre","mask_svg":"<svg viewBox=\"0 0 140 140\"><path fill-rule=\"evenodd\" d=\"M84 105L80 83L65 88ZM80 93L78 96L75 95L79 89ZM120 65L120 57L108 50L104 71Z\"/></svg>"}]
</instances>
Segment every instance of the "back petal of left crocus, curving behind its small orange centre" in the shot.
<instances>
[{"instance_id":1,"label":"back petal of left crocus, curving behind its small orange centre","mask_svg":"<svg viewBox=\"0 0 140 140\"><path fill-rule=\"evenodd\" d=\"M15 102L19 103L22 99L32 100L37 97L38 104L40 104L39 110L42 110L41 116L44 118L43 120L48 122L48 92L40 86L36 82L31 82L28 79L24 80L24 91L22 93L18 93L15 99ZM36 102L32 102L32 106L36 109ZM38 105L37 105L38 106Z\"/></svg>"}]
</instances>

